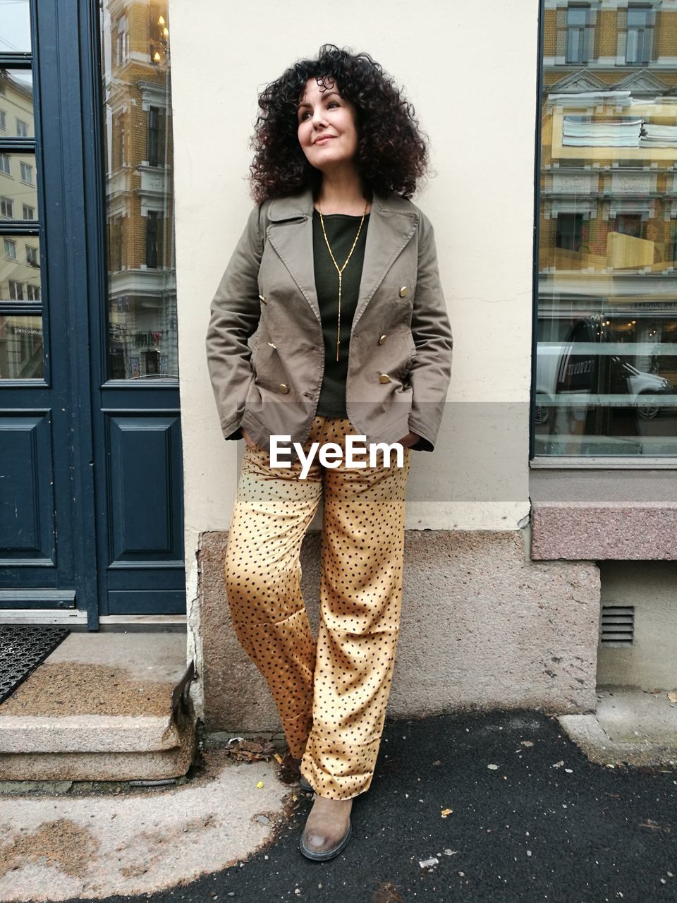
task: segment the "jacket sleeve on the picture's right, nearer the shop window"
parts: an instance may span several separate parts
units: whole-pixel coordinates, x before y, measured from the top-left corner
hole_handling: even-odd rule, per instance
[[[409,373],[413,388],[409,429],[421,436],[421,441],[412,448],[431,452],[447,400],[453,339],[440,283],[434,232],[422,211],[419,217],[421,232],[412,315],[416,357]]]

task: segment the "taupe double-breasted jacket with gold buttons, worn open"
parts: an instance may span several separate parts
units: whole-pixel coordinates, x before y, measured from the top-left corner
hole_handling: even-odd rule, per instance
[[[305,442],[324,342],[312,259],[311,191],[252,210],[211,304],[209,374],[221,429]],[[338,288],[338,280],[337,280]],[[366,442],[410,431],[431,451],[450,382],[452,338],[429,219],[375,197],[348,350],[348,418]]]

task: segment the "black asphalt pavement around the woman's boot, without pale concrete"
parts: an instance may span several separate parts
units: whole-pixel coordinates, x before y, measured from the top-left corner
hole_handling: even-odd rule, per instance
[[[300,793],[274,841],[246,861],[107,899],[677,901],[676,804],[677,768],[592,764],[543,712],[386,720],[336,859],[301,856],[312,797]]]

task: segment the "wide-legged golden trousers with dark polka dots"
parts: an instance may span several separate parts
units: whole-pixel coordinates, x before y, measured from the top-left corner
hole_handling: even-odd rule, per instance
[[[336,442],[348,419],[315,417],[304,443]],[[287,456],[288,460],[288,456]],[[404,466],[271,468],[247,446],[225,575],[236,636],[273,694],[292,756],[320,796],[349,799],[374,777],[402,603]],[[301,542],[324,501],[317,642],[301,596]]]

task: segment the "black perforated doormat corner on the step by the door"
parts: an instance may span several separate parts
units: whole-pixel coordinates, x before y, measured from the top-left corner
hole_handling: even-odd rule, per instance
[[[0,703],[70,634],[66,627],[0,624]]]

